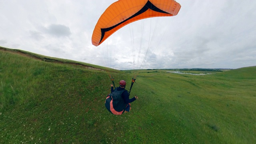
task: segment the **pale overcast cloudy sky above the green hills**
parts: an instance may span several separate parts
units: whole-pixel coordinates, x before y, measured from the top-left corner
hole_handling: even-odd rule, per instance
[[[176,0],[177,16],[133,22],[93,46],[115,1],[0,0],[0,46],[118,70],[256,66],[255,0]]]

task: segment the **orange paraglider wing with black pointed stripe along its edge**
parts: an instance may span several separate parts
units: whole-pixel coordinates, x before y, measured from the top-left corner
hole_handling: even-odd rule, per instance
[[[175,0],[118,0],[100,16],[92,34],[92,44],[100,45],[118,29],[136,20],[175,16],[180,7]]]

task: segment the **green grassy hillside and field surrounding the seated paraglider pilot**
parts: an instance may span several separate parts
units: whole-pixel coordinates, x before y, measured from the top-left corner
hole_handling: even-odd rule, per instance
[[[110,78],[139,100],[115,116]],[[0,48],[0,143],[254,144],[256,66],[195,76],[126,72]]]

